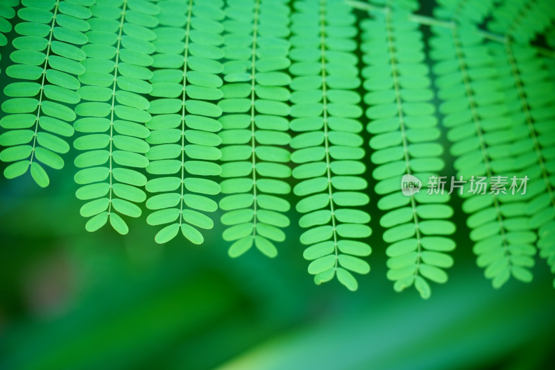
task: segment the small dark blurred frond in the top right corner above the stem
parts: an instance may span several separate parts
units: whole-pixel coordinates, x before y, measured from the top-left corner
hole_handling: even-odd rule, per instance
[[[529,43],[544,33],[554,19],[552,0],[503,0],[497,4],[488,28],[516,42]]]

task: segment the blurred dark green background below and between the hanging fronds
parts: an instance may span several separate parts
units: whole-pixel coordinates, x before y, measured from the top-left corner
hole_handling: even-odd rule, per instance
[[[420,14],[430,15],[432,4],[423,5]],[[2,71],[10,48],[2,49]],[[531,284],[511,279],[493,289],[476,267],[459,199],[450,280],[422,301],[386,280],[370,164],[372,271],[352,293],[336,280],[314,285],[293,212],[273,260],[255,249],[228,258],[217,222],[202,246],[179,237],[155,244],[147,212],[125,237],[108,227],[87,233],[71,155],[44,190],[28,174],[0,180],[2,370],[555,368],[545,261],[538,258]],[[448,153],[445,160],[450,176]]]

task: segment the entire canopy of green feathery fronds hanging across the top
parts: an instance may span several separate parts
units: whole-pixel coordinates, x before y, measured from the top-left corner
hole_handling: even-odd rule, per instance
[[[456,192],[494,287],[529,282],[538,249],[555,273],[552,0],[437,0],[433,17],[419,6],[0,1],[1,52],[15,49],[4,175],[49,185],[44,165],[64,166],[77,131],[89,231],[109,220],[126,234],[145,205],[157,243],[201,244],[221,224],[231,257],[275,257],[295,199],[316,284],[358,288],[375,222],[393,289],[422,298],[453,264]],[[424,188],[400,189],[405,175]],[[522,178],[526,193],[511,194]]]

